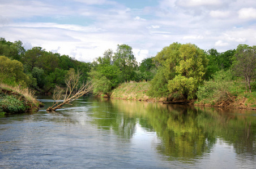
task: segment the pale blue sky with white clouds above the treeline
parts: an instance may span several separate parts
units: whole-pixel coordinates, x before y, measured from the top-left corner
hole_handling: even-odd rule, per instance
[[[0,0],[0,37],[91,62],[117,45],[138,63],[173,42],[256,45],[255,0]]]

